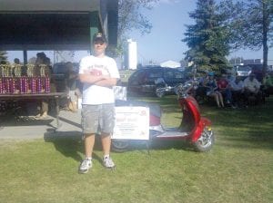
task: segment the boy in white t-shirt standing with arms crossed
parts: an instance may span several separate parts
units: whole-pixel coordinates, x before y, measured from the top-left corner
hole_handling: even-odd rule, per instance
[[[83,82],[82,127],[85,136],[86,158],[79,166],[80,173],[88,172],[92,167],[92,152],[95,135],[100,132],[104,151],[104,165],[114,168],[109,157],[111,133],[115,125],[115,97],[113,86],[119,78],[116,62],[106,56],[106,39],[103,34],[95,34],[94,54],[81,60],[79,79]]]

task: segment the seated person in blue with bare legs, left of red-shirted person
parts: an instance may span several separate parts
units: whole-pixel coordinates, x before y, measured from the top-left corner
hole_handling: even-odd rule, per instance
[[[214,78],[214,73],[208,73],[208,78],[204,81],[203,86],[207,88],[207,96],[213,97],[217,102],[217,107],[225,107],[221,92],[217,91],[217,82]]]

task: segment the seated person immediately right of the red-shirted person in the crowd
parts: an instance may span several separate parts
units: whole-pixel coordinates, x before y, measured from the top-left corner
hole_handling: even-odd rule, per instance
[[[230,89],[232,93],[233,103],[237,107],[244,102],[244,82],[242,81],[240,76],[237,75],[235,80],[230,82]]]

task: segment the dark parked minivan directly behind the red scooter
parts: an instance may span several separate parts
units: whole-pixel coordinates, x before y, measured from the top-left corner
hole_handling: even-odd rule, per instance
[[[185,81],[185,73],[176,68],[146,66],[136,70],[136,72],[129,77],[127,91],[156,95],[157,88],[166,86],[169,87],[170,93],[174,93],[174,87]]]

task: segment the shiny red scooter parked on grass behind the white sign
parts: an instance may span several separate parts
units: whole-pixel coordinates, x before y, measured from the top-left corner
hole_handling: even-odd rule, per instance
[[[183,117],[177,128],[164,127],[161,122],[161,108],[157,104],[147,102],[116,102],[116,106],[147,106],[149,107],[149,140],[187,140],[197,151],[211,150],[215,136],[211,130],[211,121],[201,117],[197,101],[188,94],[197,82],[185,82],[177,86],[178,103]],[[164,90],[162,90],[164,91]],[[112,140],[112,150],[125,151],[130,140]]]

